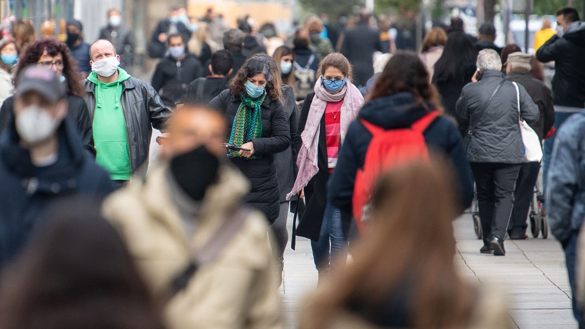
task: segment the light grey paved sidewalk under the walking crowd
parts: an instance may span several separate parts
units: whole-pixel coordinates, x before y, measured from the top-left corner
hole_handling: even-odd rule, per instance
[[[292,214],[288,218],[292,223]],[[508,293],[512,328],[576,329],[571,310],[571,293],[565,268],[565,254],[554,238],[506,240],[506,255],[479,253],[482,242],[473,232],[470,215],[454,222],[455,255],[461,273],[468,280],[498,283]],[[290,225],[288,225],[290,230]],[[287,320],[296,328],[298,307],[317,283],[311,244],[297,237],[297,250],[284,255],[284,280],[280,287]]]

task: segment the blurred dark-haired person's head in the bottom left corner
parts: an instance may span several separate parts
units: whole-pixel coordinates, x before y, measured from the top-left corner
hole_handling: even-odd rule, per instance
[[[163,329],[132,256],[95,200],[67,198],[48,211],[4,272],[0,327]]]

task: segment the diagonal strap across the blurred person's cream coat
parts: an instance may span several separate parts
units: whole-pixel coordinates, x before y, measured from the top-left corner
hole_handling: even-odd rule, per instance
[[[170,297],[185,289],[191,281],[191,277],[201,266],[205,266],[217,258],[223,248],[232,241],[233,236],[240,231],[249,214],[250,211],[244,208],[225,218],[207,243],[195,255],[191,256],[191,261],[187,267],[171,281]]]

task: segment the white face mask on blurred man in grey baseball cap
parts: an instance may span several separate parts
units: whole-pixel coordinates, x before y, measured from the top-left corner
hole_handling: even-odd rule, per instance
[[[49,138],[60,121],[50,116],[37,105],[30,105],[16,115],[16,131],[29,144],[36,144]]]

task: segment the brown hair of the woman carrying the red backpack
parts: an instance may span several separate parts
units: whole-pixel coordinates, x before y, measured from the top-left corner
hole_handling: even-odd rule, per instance
[[[377,78],[369,100],[388,97],[399,92],[410,92],[418,102],[426,107],[425,101],[443,112],[439,93],[430,83],[429,71],[414,52],[399,50],[384,67]]]

